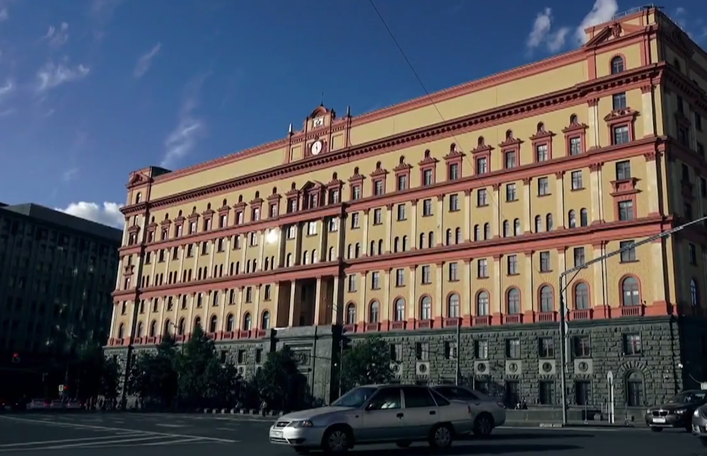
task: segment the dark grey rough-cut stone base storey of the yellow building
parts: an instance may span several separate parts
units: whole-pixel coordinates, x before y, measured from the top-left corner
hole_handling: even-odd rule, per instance
[[[272,329],[262,339],[219,342],[223,361],[238,366],[244,378],[255,375],[267,353],[289,346],[300,362],[300,373],[306,378],[313,397],[330,400],[338,394],[336,371],[339,361],[339,327],[293,327]],[[624,336],[640,334],[641,354],[626,353]],[[351,344],[367,334],[345,334]],[[383,332],[380,333],[397,354],[397,380],[403,383],[436,384],[454,382],[455,328]],[[590,354],[575,356],[573,337],[590,337]],[[539,339],[554,340],[554,357],[539,356]],[[507,356],[510,339],[520,339],[520,356]],[[477,341],[486,341],[487,356],[475,353]],[[568,402],[576,404],[575,385],[588,385],[587,399],[593,407],[602,407],[609,398],[611,372],[614,378],[614,398],[617,407],[629,400],[627,379],[638,390],[638,405],[665,402],[683,388],[699,387],[696,382],[707,380],[703,372],[707,357],[707,321],[674,317],[626,317],[617,320],[571,322],[568,333],[566,380]],[[490,394],[503,397],[510,382],[517,382],[518,397],[528,404],[539,402],[540,385],[551,390],[552,404],[561,403],[559,330],[555,323],[542,325],[503,325],[498,327],[462,328],[460,333],[460,372],[462,380],[484,387]],[[418,344],[421,344],[418,346]],[[136,346],[133,353],[152,349]],[[426,353],[421,353],[427,349]],[[107,347],[106,356],[115,356],[121,366],[127,360],[126,347]],[[682,366],[682,367],[681,367]],[[638,382],[638,383],[636,383]],[[617,410],[617,413],[619,411]]]

